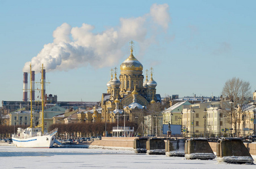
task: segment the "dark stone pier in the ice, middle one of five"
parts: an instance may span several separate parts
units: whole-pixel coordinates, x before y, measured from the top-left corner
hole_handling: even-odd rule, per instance
[[[164,140],[166,146],[166,156],[185,156],[185,139],[167,139]]]

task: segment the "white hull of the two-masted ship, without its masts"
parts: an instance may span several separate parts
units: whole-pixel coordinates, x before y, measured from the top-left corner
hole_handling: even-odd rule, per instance
[[[12,142],[19,148],[52,148],[55,135],[34,136],[27,139],[12,137]]]

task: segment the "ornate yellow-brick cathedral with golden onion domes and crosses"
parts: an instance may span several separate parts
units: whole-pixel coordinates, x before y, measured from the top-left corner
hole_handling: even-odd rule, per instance
[[[114,123],[121,116],[125,121],[133,121],[134,109],[146,109],[147,105],[160,102],[160,94],[156,94],[157,82],[153,79],[153,69],[150,68],[150,79],[144,81],[142,74],[143,65],[133,56],[133,42],[131,42],[131,54],[120,65],[119,79],[116,77],[117,69],[114,69],[113,78],[107,82],[107,93],[102,94],[102,122]]]

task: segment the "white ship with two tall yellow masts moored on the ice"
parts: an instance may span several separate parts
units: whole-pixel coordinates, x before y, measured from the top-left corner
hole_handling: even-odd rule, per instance
[[[30,65],[31,68],[31,65]],[[31,71],[32,72],[32,71]],[[42,73],[44,72],[44,64],[42,64]],[[16,134],[12,135],[12,142],[17,147],[22,148],[51,148],[53,147],[55,134],[58,128],[47,133],[44,132],[44,78],[41,79],[42,86],[42,114],[41,124],[33,127],[32,99],[31,99],[31,126],[28,128],[18,128]],[[31,78],[31,97],[32,97],[32,78]]]

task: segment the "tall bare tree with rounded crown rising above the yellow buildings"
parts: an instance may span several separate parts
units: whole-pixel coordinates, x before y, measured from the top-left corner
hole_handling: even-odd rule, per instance
[[[232,104],[229,104],[229,101],[224,101],[222,106],[224,108],[225,114],[231,115],[232,119],[229,122],[234,124],[235,133],[237,134],[237,116],[240,117],[240,115],[237,115],[235,108],[237,105],[242,106],[246,103],[246,101],[248,101],[251,95],[250,83],[242,81],[242,79],[236,77],[228,79],[228,81],[224,84],[222,95],[224,98],[228,98],[230,101],[233,101]],[[232,111],[228,113],[227,108]]]

